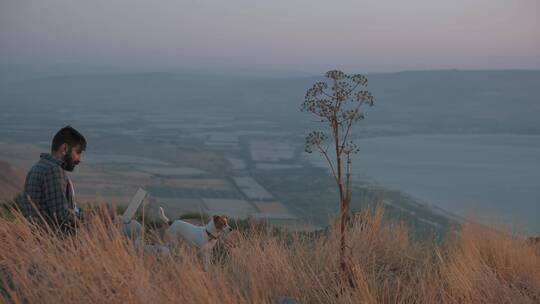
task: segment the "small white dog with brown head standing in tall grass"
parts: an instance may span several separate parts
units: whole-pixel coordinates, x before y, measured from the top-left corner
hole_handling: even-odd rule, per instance
[[[182,238],[199,248],[204,271],[208,271],[212,248],[216,245],[218,238],[232,231],[227,218],[220,215],[214,215],[206,226],[195,226],[182,220],[171,222],[161,207],[159,207],[159,217],[170,225],[166,234],[176,239]]]

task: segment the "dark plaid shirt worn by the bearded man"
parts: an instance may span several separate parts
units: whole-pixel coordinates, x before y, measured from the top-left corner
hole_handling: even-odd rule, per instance
[[[62,169],[62,160],[42,153],[30,169],[24,184],[24,198],[19,208],[28,219],[39,220],[37,210],[52,224],[71,225],[75,220],[73,184]],[[27,199],[28,196],[31,202]],[[32,206],[35,204],[36,208]]]

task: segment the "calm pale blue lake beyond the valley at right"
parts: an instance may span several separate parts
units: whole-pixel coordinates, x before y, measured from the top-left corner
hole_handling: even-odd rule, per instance
[[[362,178],[461,216],[540,233],[540,135],[410,135],[356,143],[361,151],[353,173]]]

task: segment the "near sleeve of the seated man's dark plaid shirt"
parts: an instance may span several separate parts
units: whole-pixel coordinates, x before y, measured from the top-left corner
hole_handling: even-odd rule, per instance
[[[73,212],[66,196],[67,182],[60,167],[52,167],[43,180],[44,209],[50,220],[58,224],[73,222]]]

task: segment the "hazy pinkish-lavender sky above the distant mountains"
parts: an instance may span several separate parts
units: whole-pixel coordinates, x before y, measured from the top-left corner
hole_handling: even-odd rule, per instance
[[[0,0],[0,64],[540,69],[539,0]]]

